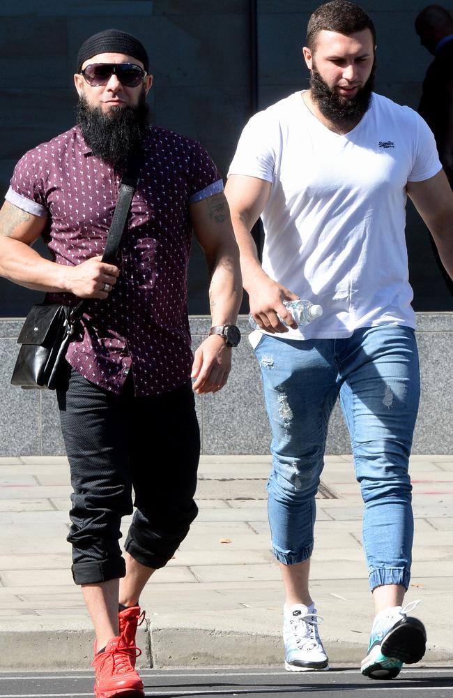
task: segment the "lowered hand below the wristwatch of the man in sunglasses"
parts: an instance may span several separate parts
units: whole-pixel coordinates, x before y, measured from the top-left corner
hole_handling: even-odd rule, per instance
[[[218,392],[227,383],[231,371],[231,347],[218,334],[210,335],[197,349],[192,366],[192,385],[197,395]]]

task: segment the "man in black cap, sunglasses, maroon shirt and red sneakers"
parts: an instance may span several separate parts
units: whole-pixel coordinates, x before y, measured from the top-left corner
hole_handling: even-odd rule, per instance
[[[95,695],[143,696],[139,596],[197,516],[194,392],[231,369],[242,289],[223,184],[197,142],[148,126],[148,55],[116,29],[79,50],[79,124],[26,153],[0,211],[0,274],[51,302],[86,299],[57,389],[70,461],[72,575],[95,628]],[[102,262],[124,172],[138,177],[114,264]],[[210,268],[213,327],[193,357],[192,227]],[[52,253],[31,248],[42,236]],[[194,378],[192,385],[191,378]],[[125,557],[121,517],[135,510]]]

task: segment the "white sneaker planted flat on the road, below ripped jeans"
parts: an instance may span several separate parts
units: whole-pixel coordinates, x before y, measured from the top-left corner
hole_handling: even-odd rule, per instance
[[[286,671],[325,671],[328,656],[318,634],[318,616],[314,604],[285,606],[283,611],[283,641]]]

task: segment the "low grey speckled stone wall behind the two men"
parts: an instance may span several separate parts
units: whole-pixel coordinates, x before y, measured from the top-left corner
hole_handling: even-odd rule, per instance
[[[17,355],[22,320],[0,320],[0,456],[59,455],[64,452],[54,392],[22,390],[9,385]],[[194,346],[210,327],[209,318],[192,317]],[[422,398],[413,452],[453,452],[453,313],[418,313]],[[243,341],[233,350],[233,371],[227,386],[215,395],[197,396],[204,454],[266,454],[270,431],[264,409],[261,377],[240,319]],[[330,420],[327,452],[350,452],[338,405]]]

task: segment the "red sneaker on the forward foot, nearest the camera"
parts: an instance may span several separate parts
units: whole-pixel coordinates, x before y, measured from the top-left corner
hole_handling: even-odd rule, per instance
[[[112,637],[107,642],[105,651],[96,654],[93,664],[96,672],[94,695],[96,698],[113,698],[121,696],[144,696],[141,678],[132,667],[132,655],[137,655],[137,647],[127,647],[121,637]],[[140,651],[139,651],[140,652]]]

